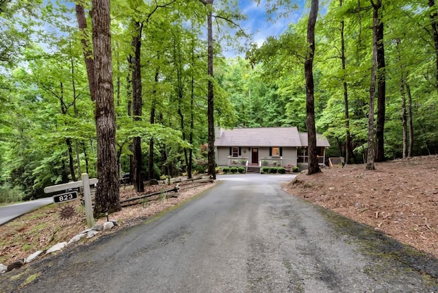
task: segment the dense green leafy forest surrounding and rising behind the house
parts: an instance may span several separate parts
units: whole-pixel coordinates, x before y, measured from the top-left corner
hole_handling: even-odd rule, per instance
[[[262,2],[272,23],[294,8],[293,1]],[[215,126],[307,131],[310,1],[297,23],[261,45],[240,27],[251,16],[238,4],[111,1],[119,175],[205,173],[213,101]],[[88,78],[89,62],[98,60],[91,9],[91,1],[0,0],[0,199],[37,199],[45,186],[98,175],[95,116],[105,111],[96,109]],[[230,48],[236,57],[225,57]],[[313,78],[327,155],[366,162],[374,91],[376,162],[438,153],[435,1],[321,1]]]

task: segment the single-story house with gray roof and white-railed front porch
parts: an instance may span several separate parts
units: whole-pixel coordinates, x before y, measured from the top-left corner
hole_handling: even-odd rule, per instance
[[[244,166],[259,171],[262,166],[298,166],[307,168],[307,133],[296,127],[259,127],[215,129],[216,164]],[[330,146],[322,134],[317,134],[316,145],[321,165],[325,149]]]

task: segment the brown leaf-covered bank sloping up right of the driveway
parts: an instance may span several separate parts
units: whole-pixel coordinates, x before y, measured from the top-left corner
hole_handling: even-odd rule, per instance
[[[287,191],[438,257],[438,155],[324,168]]]

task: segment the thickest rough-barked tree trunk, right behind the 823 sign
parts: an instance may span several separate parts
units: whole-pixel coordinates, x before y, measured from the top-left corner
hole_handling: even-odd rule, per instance
[[[112,85],[110,0],[92,0],[96,86],[97,184],[95,214],[120,211],[116,155],[116,115]]]

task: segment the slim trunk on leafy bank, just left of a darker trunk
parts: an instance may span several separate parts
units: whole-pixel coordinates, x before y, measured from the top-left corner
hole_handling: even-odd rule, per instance
[[[376,99],[376,79],[377,79],[377,37],[378,36],[378,10],[373,12],[372,26],[372,69],[370,84],[370,108],[368,110],[368,151],[367,151],[367,170],[374,170],[374,160],[376,149],[374,145],[374,100]]]

